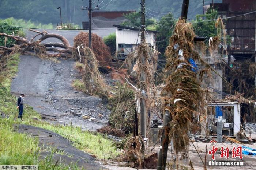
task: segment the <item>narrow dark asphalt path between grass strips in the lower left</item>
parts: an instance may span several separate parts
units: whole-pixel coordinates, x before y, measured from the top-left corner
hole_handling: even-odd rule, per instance
[[[84,153],[83,151],[80,151],[79,149],[76,149],[67,139],[63,138],[57,133],[24,124],[15,124],[14,127],[19,133],[26,133],[32,137],[38,137],[39,147],[43,147],[44,149],[52,147],[57,151],[63,151],[65,153],[64,155],[53,153],[53,159],[55,161],[62,160],[61,163],[65,164],[76,163],[76,165],[79,167],[84,167],[91,170],[102,169],[102,167],[94,163],[95,159],[93,157],[87,153]],[[40,157],[43,159],[49,154],[50,152],[42,151],[40,152]]]

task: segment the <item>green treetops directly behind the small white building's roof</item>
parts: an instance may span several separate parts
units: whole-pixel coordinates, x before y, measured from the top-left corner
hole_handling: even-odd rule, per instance
[[[127,27],[135,27],[135,28],[140,28],[141,27],[141,14],[139,12],[132,12],[132,13],[128,13],[126,15],[124,15],[124,17],[126,17],[128,19],[128,21],[124,21],[123,23],[121,23],[121,25],[123,26],[127,26]],[[156,20],[155,19],[146,19],[145,24],[148,27],[152,27],[156,24]]]

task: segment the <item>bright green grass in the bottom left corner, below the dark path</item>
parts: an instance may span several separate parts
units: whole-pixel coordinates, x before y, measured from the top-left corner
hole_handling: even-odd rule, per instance
[[[31,121],[31,120],[30,120]],[[13,129],[15,121],[10,118],[0,118],[0,165],[38,165],[38,169],[68,170],[78,169],[76,165],[64,165],[61,160],[56,164],[53,159],[54,150],[44,159],[39,159],[39,151],[44,151],[38,146],[38,138],[27,134],[17,133]]]

